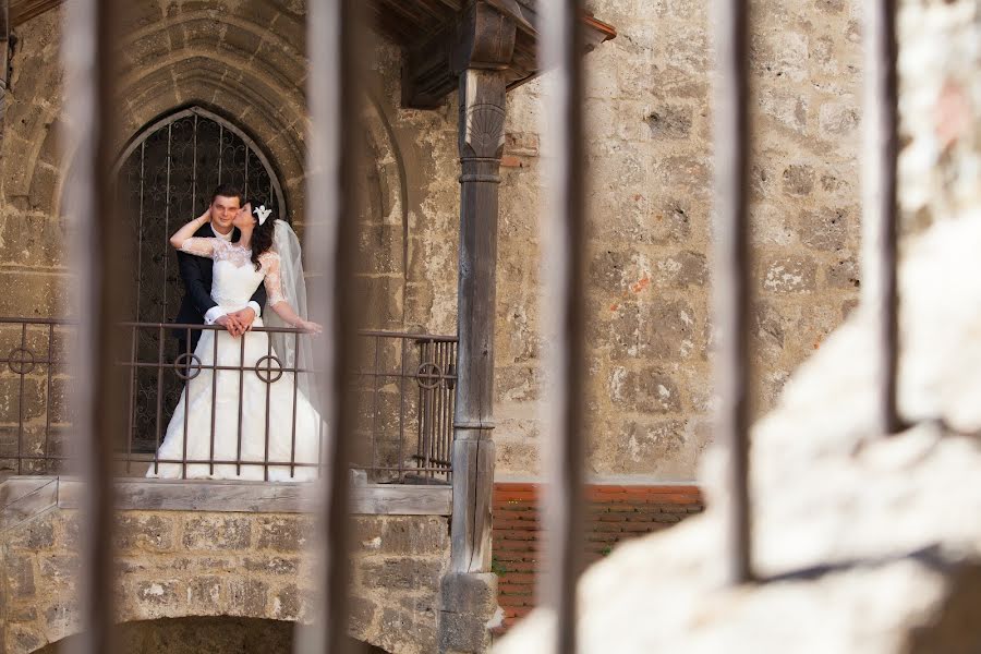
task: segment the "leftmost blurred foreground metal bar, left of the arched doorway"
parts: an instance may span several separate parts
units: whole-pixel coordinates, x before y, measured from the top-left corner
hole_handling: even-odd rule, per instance
[[[118,123],[112,86],[116,20],[120,8],[112,0],[76,0],[68,3],[63,22],[62,61],[65,71],[65,152],[74,153],[75,174],[68,181],[66,205],[77,229],[73,263],[78,272],[78,305],[86,307],[80,320],[78,347],[73,355],[76,384],[75,439],[82,479],[86,483],[80,523],[81,581],[78,605],[82,621],[74,649],[81,654],[112,654],[113,520],[112,444],[125,428],[119,410],[122,386],[111,365],[116,339],[112,326],[122,316],[126,283],[122,230],[116,222],[110,130]]]

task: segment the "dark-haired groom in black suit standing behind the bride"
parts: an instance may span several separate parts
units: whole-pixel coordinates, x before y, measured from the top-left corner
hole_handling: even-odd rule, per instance
[[[221,184],[211,194],[209,208],[210,219],[201,229],[194,232],[195,237],[215,237],[226,241],[239,240],[239,230],[232,226],[235,214],[244,204],[242,192],[230,184]],[[259,284],[249,306],[234,313],[221,312],[218,303],[211,300],[211,268],[215,264],[210,258],[194,256],[184,252],[178,252],[178,263],[181,269],[181,279],[184,281],[184,299],[181,301],[181,310],[175,322],[192,325],[221,325],[233,337],[239,337],[252,326],[256,316],[262,313],[262,306],[266,303],[265,284]],[[179,352],[193,352],[201,339],[201,330],[191,330],[191,341],[187,342],[187,330],[175,329]]]

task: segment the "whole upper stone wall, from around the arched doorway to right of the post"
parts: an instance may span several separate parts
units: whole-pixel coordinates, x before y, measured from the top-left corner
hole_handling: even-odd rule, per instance
[[[712,53],[706,3],[593,0],[619,36],[585,59],[593,214],[591,472],[690,480],[711,440]],[[753,241],[762,407],[853,304],[860,46],[856,0],[759,0]],[[199,104],[269,153],[302,223],[302,4],[140,3],[128,19],[120,138]],[[63,291],[60,12],[17,28],[0,156],[0,315],[57,315]],[[399,108],[399,52],[377,48],[368,220],[359,270],[372,327],[456,331],[457,101]],[[499,221],[498,470],[538,471],[542,124],[547,75],[508,100]],[[16,161],[11,165],[8,162]],[[301,226],[302,227],[302,226]]]

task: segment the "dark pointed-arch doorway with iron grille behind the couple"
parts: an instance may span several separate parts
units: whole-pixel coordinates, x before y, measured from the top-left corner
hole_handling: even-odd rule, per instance
[[[177,315],[184,287],[168,239],[204,211],[218,184],[234,184],[270,207],[274,216],[288,218],[282,187],[266,154],[232,122],[202,107],[175,111],[142,129],[119,158],[117,180],[120,207],[131,228],[135,292],[130,318],[140,323],[167,323]],[[145,362],[156,362],[161,352],[168,362],[178,354],[166,330],[141,329],[136,350],[138,361]],[[135,374],[137,451],[154,449],[183,388],[177,375],[158,374],[153,368]]]

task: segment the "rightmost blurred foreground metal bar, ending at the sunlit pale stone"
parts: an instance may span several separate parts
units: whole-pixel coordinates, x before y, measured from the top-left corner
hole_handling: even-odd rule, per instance
[[[903,428],[896,399],[899,299],[896,278],[896,158],[899,152],[896,0],[870,0],[865,21],[863,301],[875,316],[875,429]]]

